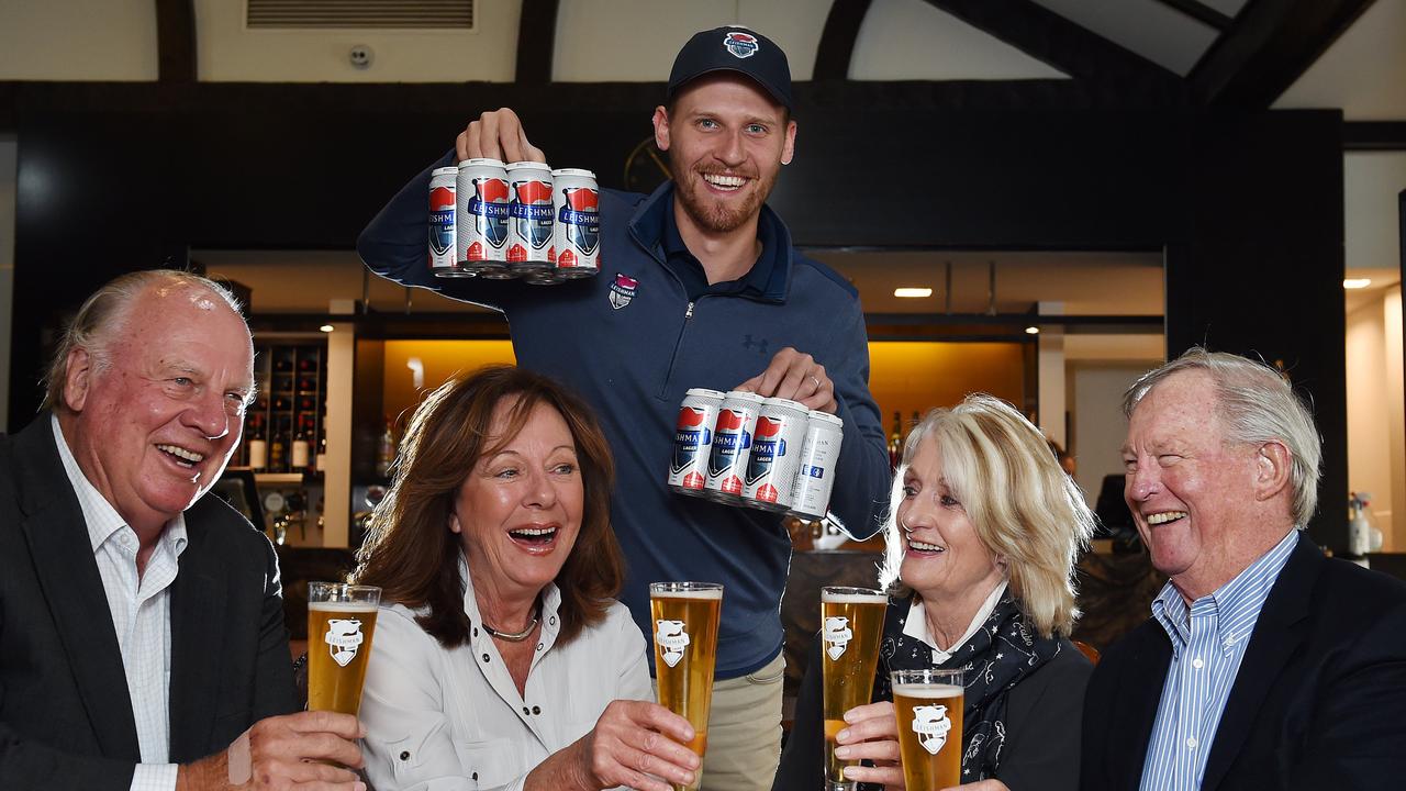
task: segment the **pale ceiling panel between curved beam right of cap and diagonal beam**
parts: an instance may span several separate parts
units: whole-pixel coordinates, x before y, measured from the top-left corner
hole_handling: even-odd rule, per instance
[[[875,0],[852,80],[1031,80],[1066,75],[924,0]]]

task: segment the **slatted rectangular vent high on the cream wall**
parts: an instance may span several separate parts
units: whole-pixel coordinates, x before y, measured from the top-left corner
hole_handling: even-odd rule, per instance
[[[246,0],[250,28],[474,30],[474,0]]]

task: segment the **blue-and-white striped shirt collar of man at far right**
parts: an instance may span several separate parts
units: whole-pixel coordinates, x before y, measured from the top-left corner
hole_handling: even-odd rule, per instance
[[[1246,566],[1234,578],[1191,602],[1189,607],[1181,591],[1168,580],[1153,600],[1152,614],[1171,638],[1173,653],[1180,653],[1191,642],[1192,619],[1212,618],[1216,643],[1225,650],[1249,638],[1298,540],[1299,531],[1289,531],[1279,543]]]

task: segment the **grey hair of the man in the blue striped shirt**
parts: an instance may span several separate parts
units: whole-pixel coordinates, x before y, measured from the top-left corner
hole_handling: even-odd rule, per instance
[[[1175,360],[1139,377],[1123,394],[1123,415],[1132,418],[1143,397],[1185,370],[1206,372],[1215,381],[1216,417],[1229,442],[1281,442],[1289,449],[1294,522],[1301,528],[1308,525],[1317,510],[1323,436],[1313,424],[1313,412],[1278,369],[1239,355],[1192,346]]]

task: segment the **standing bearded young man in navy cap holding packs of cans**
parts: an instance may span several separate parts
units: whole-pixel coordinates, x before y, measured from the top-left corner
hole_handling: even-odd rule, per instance
[[[875,532],[890,484],[858,293],[800,255],[765,204],[794,153],[790,108],[790,69],[770,39],[742,28],[689,39],[654,111],[673,179],[650,196],[602,190],[598,277],[544,290],[437,280],[425,266],[430,170],[479,156],[546,160],[506,108],[468,124],[456,151],[411,182],[357,242],[381,276],[503,311],[519,365],[596,407],[619,477],[612,519],[628,560],[620,600],[645,635],[648,583],[724,584],[707,788],[770,787],[790,540],[776,514],[665,487],[685,390],[740,387],[841,417],[830,507],[856,538]]]

